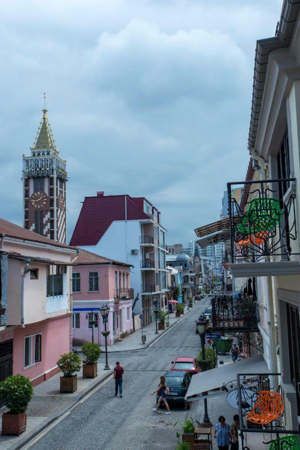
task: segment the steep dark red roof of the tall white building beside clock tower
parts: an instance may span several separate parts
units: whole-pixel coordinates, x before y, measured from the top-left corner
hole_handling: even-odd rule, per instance
[[[149,216],[126,195],[127,220]],[[96,245],[114,220],[125,220],[125,195],[85,197],[70,245]]]

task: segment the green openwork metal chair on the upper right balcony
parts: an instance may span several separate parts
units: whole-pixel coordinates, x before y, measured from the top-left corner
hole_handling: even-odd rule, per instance
[[[249,208],[235,230],[241,234],[271,231],[278,225],[281,213],[280,202],[276,198],[253,198]]]

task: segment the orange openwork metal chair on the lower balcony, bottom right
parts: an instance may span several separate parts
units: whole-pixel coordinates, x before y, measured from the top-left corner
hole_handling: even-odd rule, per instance
[[[261,390],[247,420],[258,425],[267,425],[282,414],[284,408],[279,392]]]

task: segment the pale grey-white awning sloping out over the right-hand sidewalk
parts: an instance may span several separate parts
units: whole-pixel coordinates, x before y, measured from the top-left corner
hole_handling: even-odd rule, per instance
[[[196,373],[192,376],[185,399],[196,400],[202,392],[222,387],[229,381],[236,380],[237,373],[268,373],[268,368],[261,354],[241,361],[219,365],[214,369]],[[191,398],[193,395],[197,397]]]

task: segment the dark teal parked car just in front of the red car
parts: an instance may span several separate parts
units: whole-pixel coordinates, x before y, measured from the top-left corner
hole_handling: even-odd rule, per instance
[[[169,388],[169,394],[166,396],[167,401],[172,400],[180,403],[184,403],[185,408],[189,408],[189,401],[185,400],[185,395],[192,377],[190,371],[168,370],[164,373],[165,382]],[[156,403],[159,395],[156,394]]]

